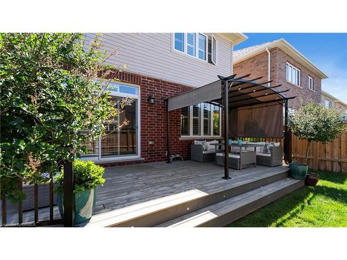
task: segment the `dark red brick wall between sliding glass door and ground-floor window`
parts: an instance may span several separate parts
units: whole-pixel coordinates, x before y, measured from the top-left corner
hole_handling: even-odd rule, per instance
[[[139,85],[141,96],[141,157],[142,161],[114,162],[103,166],[119,166],[124,164],[141,164],[144,162],[160,162],[167,159],[167,112],[164,98],[187,92],[192,87],[170,83],[157,78],[136,75],[127,72],[113,73],[112,78],[118,78],[125,83]],[[155,104],[150,104],[150,95],[155,97]],[[171,154],[190,157],[192,141],[180,141],[180,110],[170,112],[170,145]],[[149,144],[149,142],[153,144]]]

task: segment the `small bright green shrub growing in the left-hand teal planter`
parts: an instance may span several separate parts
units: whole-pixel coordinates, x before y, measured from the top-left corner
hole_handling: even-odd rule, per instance
[[[105,168],[94,164],[92,161],[82,161],[81,159],[74,160],[72,164],[74,171],[74,192],[94,189],[97,186],[102,186],[105,179],[103,173]],[[55,177],[54,182],[58,184],[56,192],[62,193],[64,184],[64,170]]]

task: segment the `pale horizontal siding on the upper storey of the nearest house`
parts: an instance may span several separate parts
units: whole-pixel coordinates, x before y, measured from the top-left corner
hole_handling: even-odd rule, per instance
[[[86,34],[85,44],[89,45],[94,36]],[[217,75],[231,73],[232,43],[221,35],[214,36],[218,42],[217,65],[174,50],[174,33],[104,33],[101,40],[107,51],[117,50],[117,55],[108,60],[109,64],[118,64],[124,71],[201,87],[217,80]]]

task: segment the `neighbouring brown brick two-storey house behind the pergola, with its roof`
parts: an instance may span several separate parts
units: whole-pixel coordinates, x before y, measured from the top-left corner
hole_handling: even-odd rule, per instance
[[[251,78],[264,76],[273,80],[278,90],[289,89],[289,108],[298,109],[300,100],[321,103],[321,80],[328,78],[318,67],[284,39],[266,42],[234,51],[234,73],[251,73]]]

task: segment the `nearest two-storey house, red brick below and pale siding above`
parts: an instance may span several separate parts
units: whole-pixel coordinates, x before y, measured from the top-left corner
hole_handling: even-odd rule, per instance
[[[90,44],[94,34],[85,35]],[[167,153],[165,99],[232,74],[233,46],[242,33],[106,33],[103,48],[117,50],[110,64],[121,71],[112,81],[115,100],[132,98],[110,125],[108,135],[90,144],[85,158],[104,166],[164,161]],[[189,159],[192,139],[221,137],[220,109],[209,103],[172,112],[171,153]],[[118,125],[128,120],[121,129]]]

